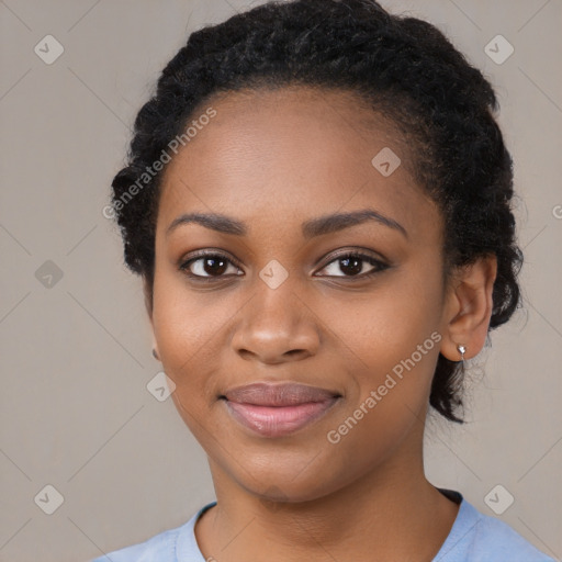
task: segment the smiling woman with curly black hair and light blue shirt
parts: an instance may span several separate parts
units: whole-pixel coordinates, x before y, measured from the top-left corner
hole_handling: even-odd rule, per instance
[[[552,560],[424,473],[429,406],[519,303],[491,85],[374,0],[193,33],[113,181],[155,357],[217,501],[97,559]]]

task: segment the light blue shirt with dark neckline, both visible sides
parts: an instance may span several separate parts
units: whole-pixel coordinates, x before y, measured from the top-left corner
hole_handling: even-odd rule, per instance
[[[481,514],[459,492],[438,490],[453,502],[460,502],[460,507],[451,531],[432,562],[555,562],[504,521]],[[198,518],[215,504],[212,502],[202,507],[181,527],[92,562],[206,562],[199,550],[194,527]]]

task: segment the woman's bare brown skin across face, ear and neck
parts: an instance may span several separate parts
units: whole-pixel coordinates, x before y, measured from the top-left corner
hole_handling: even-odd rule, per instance
[[[408,173],[411,156],[392,126],[352,94],[293,87],[231,92],[200,113],[209,105],[216,116],[162,178],[147,306],[172,398],[215,486],[217,506],[195,526],[200,549],[220,562],[430,561],[458,513],[424,474],[430,383],[439,351],[458,361],[458,344],[467,359],[484,346],[496,261],[481,259],[443,286],[440,212]],[[389,177],[371,164],[383,147],[402,159]],[[303,237],[305,221],[363,209],[407,235],[368,221]],[[166,235],[192,212],[243,221],[247,234],[190,223]],[[189,271],[207,284],[179,269],[205,248],[234,258],[214,278],[216,267],[192,262]],[[363,260],[350,276],[337,259],[344,248],[390,267]],[[276,289],[259,277],[273,259],[288,273]],[[329,442],[328,431],[436,331],[440,341]],[[342,398],[312,425],[265,438],[218,400],[256,381],[300,382]]]

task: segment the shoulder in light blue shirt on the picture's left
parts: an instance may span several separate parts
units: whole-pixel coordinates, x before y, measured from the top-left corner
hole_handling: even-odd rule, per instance
[[[203,512],[215,503],[202,507],[180,527],[155,535],[144,542],[109,552],[91,562],[184,562],[187,560],[190,562],[203,560],[204,562],[196,544],[194,527]]]

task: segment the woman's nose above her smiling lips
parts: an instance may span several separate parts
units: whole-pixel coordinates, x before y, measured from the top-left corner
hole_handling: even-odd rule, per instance
[[[259,288],[240,314],[232,346],[243,359],[274,364],[317,353],[316,316],[289,283]]]

